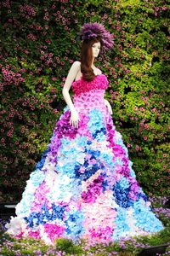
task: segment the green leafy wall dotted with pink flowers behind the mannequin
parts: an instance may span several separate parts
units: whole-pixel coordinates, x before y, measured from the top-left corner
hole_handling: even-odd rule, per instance
[[[98,21],[114,47],[96,65],[138,181],[168,195],[168,5],[163,0],[3,0],[1,201],[19,201],[65,107],[61,90],[79,59],[77,32]]]

